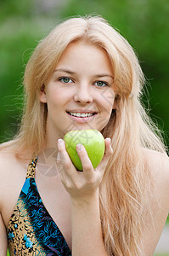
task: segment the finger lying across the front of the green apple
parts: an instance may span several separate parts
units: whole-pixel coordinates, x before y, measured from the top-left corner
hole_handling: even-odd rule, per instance
[[[91,177],[93,175],[93,165],[88,157],[87,150],[82,144],[76,145],[76,151],[82,162],[82,170],[85,176]]]

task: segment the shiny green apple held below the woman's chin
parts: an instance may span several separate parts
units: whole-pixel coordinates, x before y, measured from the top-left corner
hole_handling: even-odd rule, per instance
[[[104,137],[97,130],[77,130],[69,131],[64,137],[65,148],[70,156],[70,160],[78,171],[82,171],[82,162],[76,152],[76,145],[81,143],[87,150],[89,159],[95,169],[104,156]]]

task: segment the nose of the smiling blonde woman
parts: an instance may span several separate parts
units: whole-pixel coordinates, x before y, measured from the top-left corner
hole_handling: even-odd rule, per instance
[[[74,101],[81,104],[87,104],[89,102],[93,102],[93,96],[87,84],[77,85],[76,92],[74,95]]]

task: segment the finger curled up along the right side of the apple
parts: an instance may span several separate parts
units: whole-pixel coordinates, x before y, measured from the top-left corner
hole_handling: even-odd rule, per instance
[[[100,171],[104,172],[108,161],[110,160],[110,156],[113,154],[113,148],[111,147],[111,139],[107,137],[105,139],[105,152],[104,152],[104,158],[97,167]]]

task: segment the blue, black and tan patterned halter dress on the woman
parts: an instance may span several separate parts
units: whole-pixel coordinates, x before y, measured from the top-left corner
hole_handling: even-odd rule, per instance
[[[37,190],[37,158],[28,166],[24,186],[10,218],[7,236],[11,256],[70,256],[70,249]]]

